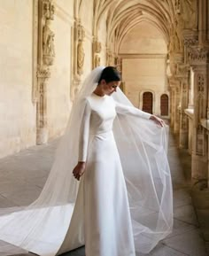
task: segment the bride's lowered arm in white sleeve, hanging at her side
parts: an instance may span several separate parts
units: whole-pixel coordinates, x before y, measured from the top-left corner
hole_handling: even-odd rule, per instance
[[[81,120],[80,138],[79,138],[79,156],[78,164],[74,167],[74,177],[79,181],[84,174],[86,167],[88,143],[89,143],[89,123],[91,109],[88,100],[86,100],[84,112]]]

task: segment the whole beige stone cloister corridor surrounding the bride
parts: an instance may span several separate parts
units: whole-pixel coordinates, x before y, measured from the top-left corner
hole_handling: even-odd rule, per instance
[[[0,214],[6,216],[2,219],[8,217],[5,213],[13,212],[16,207],[19,210],[29,205],[45,191],[44,183],[49,175],[59,138],[66,130],[69,114],[78,92],[83,88],[83,81],[98,66],[113,66],[120,76],[117,80],[120,81],[120,89],[130,103],[135,108],[154,115],[153,119],[162,118],[170,127],[168,159],[174,189],[174,229],[149,255],[209,255],[209,0],[0,0],[0,33]],[[97,82],[92,81],[92,84],[96,86]],[[88,86],[92,84],[89,83]],[[122,94],[120,96],[124,97]],[[125,100],[128,102],[127,98]],[[78,119],[81,120],[80,116]],[[130,121],[129,124],[134,122]],[[74,125],[75,128],[77,131],[81,130],[81,126],[77,128]],[[141,129],[141,132],[147,130]],[[133,144],[138,145],[135,141]],[[133,157],[135,152],[141,151],[128,152]],[[154,154],[152,156],[156,157]],[[140,158],[135,158],[136,160],[140,161]],[[157,166],[158,162],[159,159],[156,160]],[[144,169],[147,170],[147,167]],[[157,173],[158,171],[154,174],[155,178]],[[147,172],[144,174],[146,176]],[[170,176],[166,174],[164,169],[157,174],[159,187],[163,184],[162,180],[168,180],[170,184]],[[137,178],[136,186],[147,184],[141,182],[141,176],[137,175]],[[57,179],[55,180],[57,184]],[[151,175],[149,184],[152,181]],[[68,191],[68,184],[65,188]],[[156,206],[161,206],[160,196],[171,195],[169,192],[160,194],[159,190],[154,190],[159,192],[159,197],[149,197],[148,186],[143,188],[145,189],[140,187],[138,198],[143,191],[149,203],[150,199],[157,199]],[[60,196],[59,191],[64,190],[51,191],[56,194],[56,198]],[[45,195],[48,198],[49,194]],[[74,200],[71,202],[74,204]],[[165,200],[160,201],[164,202]],[[153,205],[150,203],[149,206]],[[163,206],[166,206],[167,212],[172,209],[171,204],[170,207],[166,204]],[[143,204],[140,207],[143,208]],[[43,210],[42,207],[38,208],[40,209]],[[148,207],[149,211],[151,209]],[[118,208],[116,210],[119,211]],[[165,212],[159,210],[163,219]],[[152,218],[151,214],[145,212],[137,216]],[[157,221],[159,226],[154,226],[154,231],[146,229],[148,236],[143,236],[144,240],[151,240],[152,231],[157,231],[157,236],[161,236],[164,231],[162,229],[170,228],[172,218],[169,221],[167,219],[165,225]],[[152,222],[153,219],[149,224]],[[1,223],[0,221],[0,225]],[[65,225],[59,226],[66,228]],[[106,228],[113,225],[104,226]],[[0,231],[3,230],[2,227],[0,226]],[[39,234],[39,226],[34,227]],[[31,228],[33,231],[34,227]],[[54,228],[56,225],[49,227]],[[26,241],[25,237],[20,238],[19,233],[15,236],[14,229],[11,230],[11,237],[18,237],[19,243],[16,244],[33,249],[36,238],[31,242],[28,236]],[[16,230],[19,232],[19,229]],[[118,229],[112,230],[114,233]],[[46,232],[48,231],[49,229]],[[57,234],[59,236],[60,233]],[[141,235],[140,232],[138,234]],[[5,236],[9,237],[7,233]],[[45,241],[38,235],[36,237],[41,242]],[[45,237],[48,237],[48,233]],[[156,237],[154,243],[157,241]],[[51,244],[60,242],[56,236],[54,239],[55,242]],[[25,246],[25,242],[29,247]],[[48,249],[54,250],[51,249],[51,244]],[[132,251],[135,250],[133,244]],[[146,246],[148,243],[144,244]],[[122,247],[118,247],[121,252]],[[58,251],[53,253],[56,252]],[[43,255],[43,252],[39,253]],[[81,247],[74,252],[67,252],[65,256],[84,254],[84,247]],[[33,254],[0,241],[0,256],[7,255]]]

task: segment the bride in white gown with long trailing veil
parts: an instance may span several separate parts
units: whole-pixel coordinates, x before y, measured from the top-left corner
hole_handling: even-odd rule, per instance
[[[166,125],[119,86],[112,66],[89,74],[40,197],[0,217],[1,240],[43,256],[83,244],[86,256],[135,256],[171,232]]]

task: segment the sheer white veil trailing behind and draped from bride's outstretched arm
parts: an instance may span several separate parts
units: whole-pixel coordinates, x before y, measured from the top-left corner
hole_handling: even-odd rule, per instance
[[[39,255],[58,253],[71,225],[79,188],[72,171],[78,160],[85,98],[96,89],[103,69],[99,66],[89,74],[74,99],[66,134],[39,198],[30,206],[0,217],[0,240]],[[132,105],[120,89],[112,97],[120,104]],[[151,120],[120,114],[114,120],[113,134],[128,190],[136,252],[149,253],[173,227],[167,133],[167,127],[159,128]]]

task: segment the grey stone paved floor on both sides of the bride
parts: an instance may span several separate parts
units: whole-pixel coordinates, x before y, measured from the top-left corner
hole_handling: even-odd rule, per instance
[[[49,174],[58,140],[35,146],[10,157],[0,159],[0,213],[10,207],[27,206],[41,192]],[[205,244],[190,198],[190,156],[176,148],[170,136],[169,163],[174,184],[174,230],[149,254],[151,256],[206,256]],[[17,248],[4,244],[0,256],[14,255]],[[19,249],[15,255],[34,255]],[[63,256],[84,256],[84,247]],[[120,256],[120,255],[119,255]],[[137,256],[143,256],[137,255]]]

